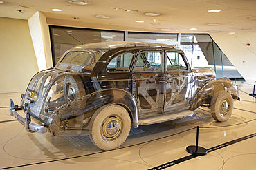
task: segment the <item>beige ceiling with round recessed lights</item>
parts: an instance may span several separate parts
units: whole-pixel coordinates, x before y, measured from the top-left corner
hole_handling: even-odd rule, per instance
[[[29,19],[40,11],[49,25],[151,32],[256,32],[256,0],[88,0],[85,6],[68,0],[2,1],[0,17]],[[52,12],[52,8],[62,11]],[[211,9],[221,12],[208,12]],[[147,12],[160,15],[146,16]],[[144,22],[136,23],[138,20]]]

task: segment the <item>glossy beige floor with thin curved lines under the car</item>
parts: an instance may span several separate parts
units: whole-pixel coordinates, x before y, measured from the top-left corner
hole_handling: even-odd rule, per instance
[[[237,85],[241,101],[228,121],[218,123],[200,107],[194,116],[131,129],[113,151],[98,149],[88,136],[27,133],[9,114],[10,98],[19,104],[20,93],[0,94],[0,169],[256,169],[253,83]],[[196,126],[205,156],[186,151],[195,145]]]

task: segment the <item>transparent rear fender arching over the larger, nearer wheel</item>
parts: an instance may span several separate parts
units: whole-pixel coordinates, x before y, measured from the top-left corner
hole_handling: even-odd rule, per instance
[[[118,104],[125,107],[138,127],[138,103],[136,98],[123,89],[103,89],[66,103],[56,109],[48,121],[48,129],[53,135],[63,135],[66,131],[82,134],[94,112],[103,105]]]

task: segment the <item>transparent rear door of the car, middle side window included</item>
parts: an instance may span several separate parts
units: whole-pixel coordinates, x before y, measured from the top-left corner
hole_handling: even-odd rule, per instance
[[[163,52],[141,50],[134,64],[133,94],[138,98],[139,118],[163,114]]]

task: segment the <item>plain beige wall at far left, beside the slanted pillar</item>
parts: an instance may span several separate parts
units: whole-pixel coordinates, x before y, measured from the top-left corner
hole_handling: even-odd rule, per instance
[[[28,21],[0,17],[0,93],[25,92],[36,72]]]

